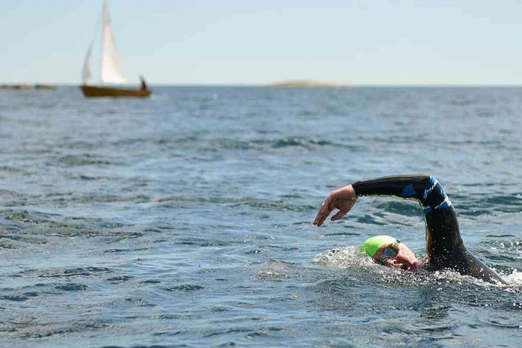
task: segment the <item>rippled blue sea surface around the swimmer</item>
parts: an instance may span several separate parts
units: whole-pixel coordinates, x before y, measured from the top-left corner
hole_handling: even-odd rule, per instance
[[[522,88],[0,90],[0,346],[519,346]],[[425,257],[419,205],[330,190],[437,177],[468,249],[509,282],[385,268]]]

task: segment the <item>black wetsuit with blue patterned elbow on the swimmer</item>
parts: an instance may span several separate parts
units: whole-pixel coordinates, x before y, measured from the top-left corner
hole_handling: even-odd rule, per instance
[[[386,176],[352,184],[357,197],[388,195],[416,200],[424,210],[429,270],[453,269],[486,282],[506,282],[466,249],[452,202],[437,179],[429,175]]]

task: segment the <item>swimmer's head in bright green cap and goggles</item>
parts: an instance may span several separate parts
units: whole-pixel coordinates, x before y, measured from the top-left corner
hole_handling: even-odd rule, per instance
[[[413,271],[419,265],[419,260],[417,260],[410,248],[397,238],[387,235],[366,239],[359,246],[359,250],[370,256],[374,261],[390,267]]]

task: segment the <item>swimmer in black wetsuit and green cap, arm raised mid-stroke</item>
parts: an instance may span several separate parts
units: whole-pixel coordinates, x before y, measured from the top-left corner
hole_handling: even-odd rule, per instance
[[[366,239],[360,245],[362,253],[389,267],[415,271],[450,269],[489,283],[506,284],[491,268],[471,255],[460,237],[457,215],[441,184],[430,175],[386,176],[368,181],[354,182],[331,191],[313,222],[321,226],[330,213],[332,221],[341,219],[360,196],[384,195],[416,200],[424,212],[426,225],[425,262],[417,259],[413,251],[398,239],[379,235]]]

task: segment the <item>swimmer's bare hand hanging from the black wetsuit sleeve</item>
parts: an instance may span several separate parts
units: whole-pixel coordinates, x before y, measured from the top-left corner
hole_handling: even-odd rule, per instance
[[[331,217],[331,221],[339,220],[352,209],[355,200],[357,200],[357,196],[355,196],[355,190],[352,185],[331,191],[330,195],[326,197],[321,205],[315,217],[314,225],[321,226],[334,209],[339,209],[339,211]]]

